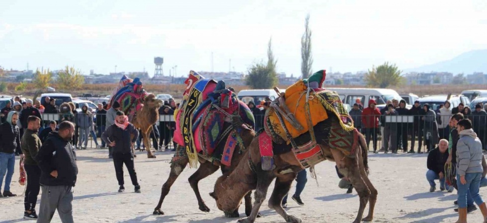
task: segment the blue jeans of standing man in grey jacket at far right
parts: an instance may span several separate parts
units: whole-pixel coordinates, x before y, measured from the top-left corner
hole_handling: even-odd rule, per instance
[[[479,194],[480,182],[482,173],[466,173],[466,184],[460,182],[460,175],[457,174],[457,186],[458,186],[458,207],[466,208],[469,198],[473,200],[477,205],[484,203],[482,197]],[[468,196],[470,194],[470,196]]]

